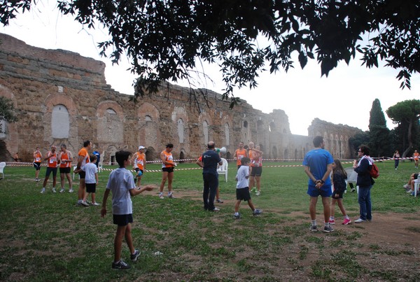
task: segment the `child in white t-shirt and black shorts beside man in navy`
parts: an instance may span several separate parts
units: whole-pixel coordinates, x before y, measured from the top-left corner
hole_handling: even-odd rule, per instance
[[[251,193],[249,192],[248,188],[250,161],[251,160],[249,157],[242,157],[241,167],[239,167],[237,176],[235,177],[235,180],[237,181],[237,202],[235,203],[235,213],[233,214],[233,218],[235,219],[241,218],[241,214],[239,213],[239,206],[241,205],[242,201],[248,201],[248,206],[251,208],[253,216],[258,216],[260,213],[262,213],[262,210],[255,209],[251,199]]]

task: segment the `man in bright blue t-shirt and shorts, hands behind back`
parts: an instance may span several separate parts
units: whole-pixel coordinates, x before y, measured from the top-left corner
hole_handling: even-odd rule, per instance
[[[331,181],[330,173],[332,171],[332,155],[328,150],[324,150],[324,140],[322,136],[315,136],[314,149],[310,150],[303,159],[304,172],[309,176],[307,194],[310,197],[309,213],[311,215],[312,232],[318,231],[316,225],[316,203],[318,196],[322,197],[323,215],[324,215],[324,228],[323,232],[329,233],[334,231],[330,226],[330,197]]]

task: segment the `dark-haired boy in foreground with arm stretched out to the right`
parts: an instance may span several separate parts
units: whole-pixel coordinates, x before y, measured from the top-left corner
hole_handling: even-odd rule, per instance
[[[136,185],[134,184],[132,172],[126,169],[130,165],[130,155],[130,152],[124,150],[116,153],[116,160],[120,167],[111,171],[102,202],[101,216],[104,218],[106,216],[106,201],[108,200],[109,193],[112,192],[113,223],[117,225],[116,237],[114,239],[113,269],[130,269],[130,265],[127,265],[121,259],[123,238],[125,238],[127,246],[130,249],[130,259],[133,262],[137,262],[140,251],[134,248],[132,239],[131,223],[133,222],[133,204],[131,197],[139,195],[146,190],[153,190],[151,185],[134,189]]]

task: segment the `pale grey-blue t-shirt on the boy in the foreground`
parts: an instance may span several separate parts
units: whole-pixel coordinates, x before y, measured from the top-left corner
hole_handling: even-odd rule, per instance
[[[125,168],[118,168],[111,171],[106,189],[112,192],[112,213],[125,215],[133,213],[133,204],[130,190],[134,189],[134,178],[131,171]]]

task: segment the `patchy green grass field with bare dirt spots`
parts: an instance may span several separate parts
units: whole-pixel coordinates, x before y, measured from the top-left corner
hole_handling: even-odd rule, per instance
[[[243,218],[232,218],[233,163],[228,183],[221,178],[225,203],[217,205],[218,213],[202,209],[199,169],[175,171],[176,199],[159,199],[158,190],[134,197],[132,235],[141,256],[137,263],[130,262],[123,245],[123,259],[132,265],[128,271],[111,269],[116,232],[111,214],[101,218],[100,207],[75,206],[76,193],[53,194],[52,178],[48,192],[41,194],[42,181],[34,181],[33,168],[6,167],[0,181],[0,281],[418,281],[418,243],[375,243],[365,227],[354,224],[336,225],[330,234],[309,232],[307,176],[302,167],[286,167],[293,164],[300,162],[264,163],[274,167],[263,168],[262,194],[253,196],[255,206],[264,211],[257,217],[243,203]],[[179,164],[178,169],[196,167]],[[420,198],[402,189],[415,172],[413,163],[400,162],[396,171],[393,162],[378,167],[373,220],[378,214],[398,213],[409,219],[405,231],[418,242]],[[148,169],[159,165],[149,164]],[[44,174],[45,167],[41,178]],[[109,171],[99,174],[100,203],[108,176]],[[158,185],[160,178],[158,172],[146,172],[142,183]],[[77,185],[76,180],[76,190]],[[108,206],[111,211],[110,201]],[[346,193],[344,206],[356,219],[356,192]],[[317,210],[321,224],[321,200]],[[341,219],[338,208],[336,216]],[[406,263],[411,271],[398,267]]]

